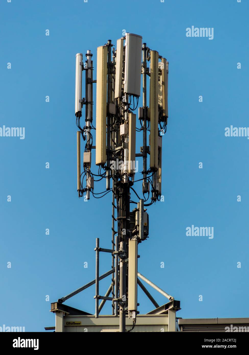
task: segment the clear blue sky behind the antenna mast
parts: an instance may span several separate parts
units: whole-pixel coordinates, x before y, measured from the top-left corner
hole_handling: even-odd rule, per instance
[[[96,48],[123,29],[169,61],[165,201],[148,210],[139,271],[181,301],[179,317],[249,317],[249,141],[224,136],[249,126],[248,10],[246,0],[1,1],[0,127],[25,127],[25,139],[0,137],[0,326],[53,326],[50,302],[94,278],[95,238],[111,247],[111,196],[77,198],[75,54],[91,49],[96,66]],[[191,26],[213,27],[213,40],[186,37]],[[213,227],[213,239],[186,236],[192,224]],[[111,257],[102,253],[100,266],[109,270]],[[92,286],[65,303],[93,313],[94,294]],[[140,290],[138,302],[140,313],[153,309]]]

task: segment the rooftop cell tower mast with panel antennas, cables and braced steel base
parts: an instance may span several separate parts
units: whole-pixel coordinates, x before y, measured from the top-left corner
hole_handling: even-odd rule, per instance
[[[147,62],[150,66],[147,67]],[[141,64],[142,63],[142,64]],[[82,73],[85,72],[85,98],[82,98]],[[142,76],[142,107],[138,118],[134,113],[139,105]],[[149,107],[147,107],[147,77],[150,78]],[[96,278],[78,290],[52,304],[52,311],[63,310],[61,304],[96,284],[95,318],[99,317],[104,303],[111,301],[112,315],[119,317],[119,331],[131,331],[136,324],[137,284],[156,307],[148,314],[168,314],[168,330],[175,330],[175,312],[180,302],[161,290],[137,271],[137,249],[149,234],[149,216],[145,207],[161,197],[162,186],[162,136],[168,119],[168,61],[150,50],[142,37],[126,33],[117,40],[114,50],[111,40],[97,48],[97,80],[93,80],[93,61],[90,50],[83,63],[82,54],[76,54],[75,116],[77,131],[77,191],[79,197],[103,197],[112,192],[112,249],[99,247],[96,239]],[[93,84],[96,83],[96,128],[93,125]],[[85,125],[82,108],[85,107]],[[137,128],[136,126],[139,126]],[[93,145],[92,130],[96,130]],[[136,134],[142,132],[143,145],[136,153]],[[81,142],[85,143],[83,169],[81,167]],[[149,143],[149,144],[148,144]],[[147,145],[148,144],[148,145]],[[98,173],[93,173],[92,149],[96,151]],[[147,158],[149,157],[149,167]],[[142,161],[142,177],[135,179],[136,158]],[[105,191],[94,192],[94,181],[106,180]],[[86,184],[84,184],[84,181]],[[112,187],[111,187],[112,181]],[[142,184],[142,191],[135,186]],[[138,182],[138,184],[135,184]],[[138,201],[131,200],[131,191]],[[139,198],[142,193],[144,198]],[[135,208],[131,210],[132,204]],[[112,269],[99,275],[99,253],[112,256]],[[105,296],[99,295],[99,281],[112,275],[112,283]],[[141,283],[139,278],[163,294],[169,302],[161,307]],[[99,304],[99,301],[101,303]],[[66,312],[64,312],[65,314]],[[70,313],[70,312],[68,312]],[[127,317],[128,316],[128,317]],[[126,319],[132,327],[126,329]]]

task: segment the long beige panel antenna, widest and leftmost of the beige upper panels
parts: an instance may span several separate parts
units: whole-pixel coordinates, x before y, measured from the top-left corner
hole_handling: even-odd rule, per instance
[[[96,165],[106,162],[107,47],[97,48]]]

